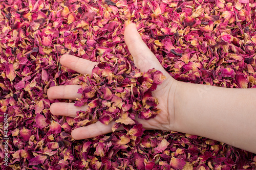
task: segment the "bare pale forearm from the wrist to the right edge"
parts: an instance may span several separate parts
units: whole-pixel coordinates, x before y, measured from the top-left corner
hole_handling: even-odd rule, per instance
[[[256,89],[179,82],[174,130],[256,153]]]

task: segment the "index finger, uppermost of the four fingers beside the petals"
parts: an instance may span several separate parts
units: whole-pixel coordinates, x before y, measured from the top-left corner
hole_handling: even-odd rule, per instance
[[[78,58],[69,54],[65,54],[60,58],[60,64],[74,71],[79,72],[80,74],[91,74],[93,67],[98,63],[92,62],[90,60]]]

